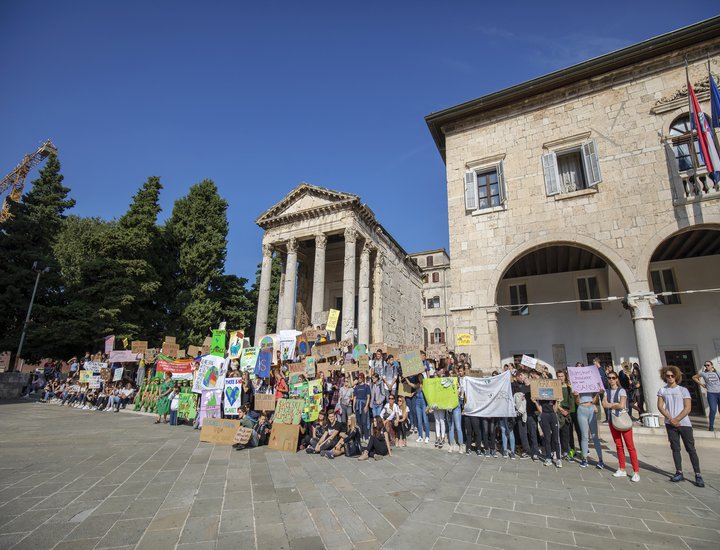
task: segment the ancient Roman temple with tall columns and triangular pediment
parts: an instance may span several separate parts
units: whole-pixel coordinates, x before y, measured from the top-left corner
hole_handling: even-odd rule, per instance
[[[325,324],[357,343],[422,341],[420,270],[360,197],[301,183],[256,223],[265,231],[255,338],[267,333],[272,254],[282,258],[277,329]]]

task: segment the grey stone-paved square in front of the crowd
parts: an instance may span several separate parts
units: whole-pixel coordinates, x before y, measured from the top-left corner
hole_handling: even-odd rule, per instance
[[[610,469],[422,447],[378,462],[237,452],[147,416],[32,402],[0,404],[0,419],[0,549],[714,550],[720,539],[715,439],[699,443],[699,489],[668,481],[661,438],[642,444],[632,484]]]

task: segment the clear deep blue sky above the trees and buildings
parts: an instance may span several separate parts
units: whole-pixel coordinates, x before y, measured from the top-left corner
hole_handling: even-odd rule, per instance
[[[0,172],[51,138],[73,213],[114,218],[148,176],[229,202],[226,270],[301,181],[356,193],[408,252],[447,247],[425,115],[717,15],[717,2],[0,3]],[[32,173],[28,178],[36,176]]]

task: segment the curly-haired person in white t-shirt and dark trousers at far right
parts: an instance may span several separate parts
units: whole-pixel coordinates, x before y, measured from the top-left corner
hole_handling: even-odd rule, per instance
[[[657,407],[660,414],[665,417],[665,429],[670,441],[673,462],[675,462],[675,475],[670,478],[670,481],[677,483],[685,479],[682,473],[682,455],[680,454],[680,440],[682,439],[695,472],[695,485],[705,487],[705,482],[700,474],[700,459],[695,450],[692,424],[688,417],[692,408],[690,392],[687,388],[679,385],[682,381],[682,373],[676,366],[668,365],[661,368],[660,377],[665,380],[665,386],[658,391]]]

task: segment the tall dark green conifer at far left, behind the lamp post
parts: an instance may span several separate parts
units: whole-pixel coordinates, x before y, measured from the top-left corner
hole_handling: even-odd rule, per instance
[[[63,185],[60,161],[50,155],[22,202],[11,205],[12,218],[0,227],[0,349],[18,346],[36,279],[33,263],[49,268],[40,277],[28,324],[23,357],[29,360],[64,349],[63,334],[54,324],[64,317],[66,303],[53,245],[65,211],[75,205],[69,193]]]

